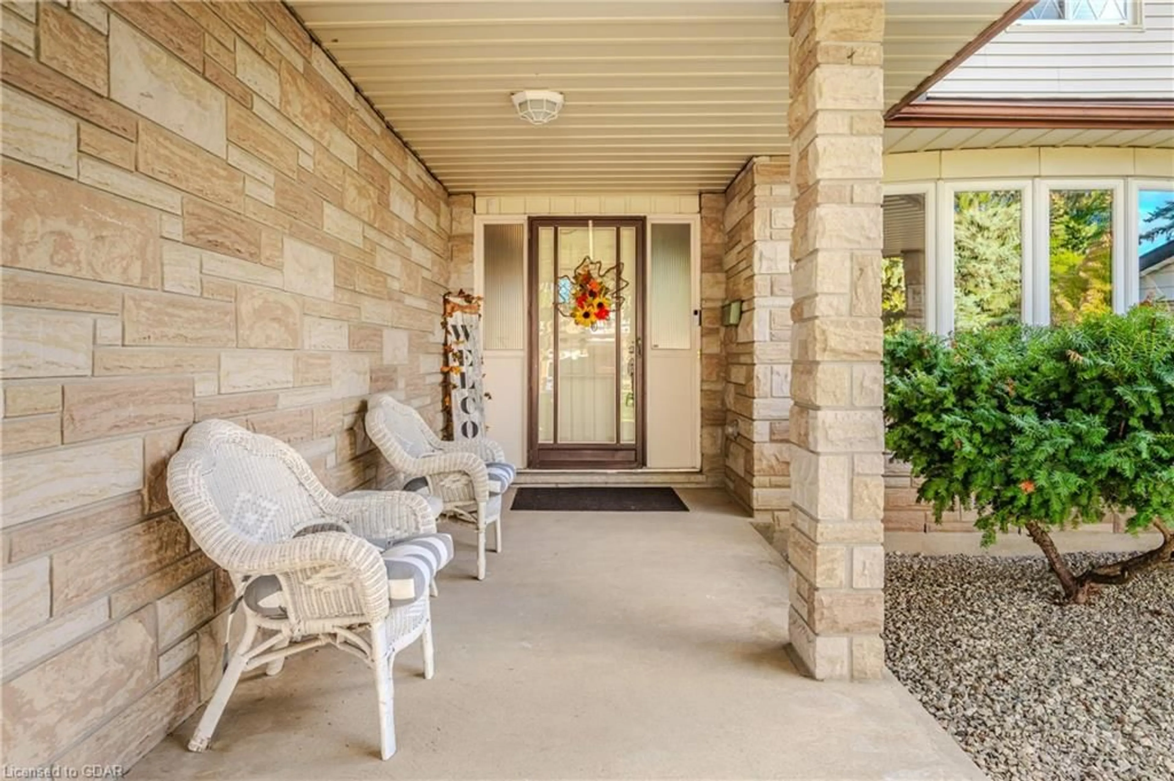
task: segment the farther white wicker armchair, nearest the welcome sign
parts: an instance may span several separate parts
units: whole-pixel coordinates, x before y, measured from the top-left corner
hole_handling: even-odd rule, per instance
[[[486,532],[493,526],[500,553],[501,498],[514,477],[501,445],[484,437],[441,440],[419,412],[387,393],[367,399],[366,433],[406,490],[426,490],[444,503],[444,513],[477,526],[477,579],[484,580]]]

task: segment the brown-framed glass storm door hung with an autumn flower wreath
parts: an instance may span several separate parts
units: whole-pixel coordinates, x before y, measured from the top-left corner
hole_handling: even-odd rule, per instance
[[[642,466],[643,220],[532,218],[529,242],[529,466]]]

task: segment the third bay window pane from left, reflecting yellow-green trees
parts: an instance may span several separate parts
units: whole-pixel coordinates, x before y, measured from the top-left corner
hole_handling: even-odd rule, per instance
[[[1052,322],[1113,309],[1112,190],[1052,190]]]

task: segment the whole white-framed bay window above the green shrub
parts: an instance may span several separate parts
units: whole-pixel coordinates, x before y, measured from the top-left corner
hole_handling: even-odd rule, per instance
[[[1174,307],[1174,180],[902,183],[884,218],[890,334]]]

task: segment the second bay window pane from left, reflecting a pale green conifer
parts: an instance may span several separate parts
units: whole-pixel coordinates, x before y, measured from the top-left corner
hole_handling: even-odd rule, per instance
[[[1023,296],[1018,190],[954,195],[954,329],[1019,321]]]

